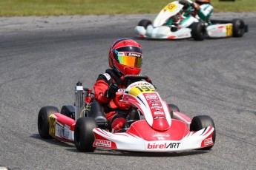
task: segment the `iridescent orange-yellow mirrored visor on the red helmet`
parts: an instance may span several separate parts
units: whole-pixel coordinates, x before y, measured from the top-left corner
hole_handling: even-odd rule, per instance
[[[114,57],[119,64],[128,67],[140,68],[142,65],[142,54],[131,52],[118,52],[117,54],[114,54]]]

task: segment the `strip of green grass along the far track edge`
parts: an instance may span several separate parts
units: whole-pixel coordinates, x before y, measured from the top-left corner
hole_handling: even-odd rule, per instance
[[[159,13],[162,0],[1,0],[0,16],[69,16]],[[211,0],[214,12],[256,12],[256,1]]]

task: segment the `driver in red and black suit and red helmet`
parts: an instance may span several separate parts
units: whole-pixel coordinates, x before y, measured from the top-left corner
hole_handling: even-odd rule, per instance
[[[118,89],[128,86],[114,84],[122,75],[139,75],[142,66],[142,49],[134,40],[122,38],[113,42],[108,55],[109,67],[104,74],[99,75],[94,84],[95,98],[102,106],[108,120],[108,128],[118,131],[125,124],[128,112],[117,109],[113,98],[116,98]]]

